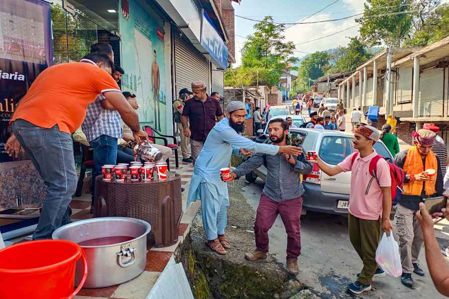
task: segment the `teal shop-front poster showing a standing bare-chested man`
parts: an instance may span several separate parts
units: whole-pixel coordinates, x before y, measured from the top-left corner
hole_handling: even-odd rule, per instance
[[[140,122],[166,133],[164,32],[162,20],[134,0],[120,2],[122,90],[137,96]],[[126,7],[127,6],[127,7]]]

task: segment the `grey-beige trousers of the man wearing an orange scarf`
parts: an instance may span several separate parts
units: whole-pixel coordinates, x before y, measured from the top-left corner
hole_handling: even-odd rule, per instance
[[[393,233],[399,243],[401,254],[402,272],[412,273],[413,264],[418,263],[424,239],[422,230],[415,215],[416,211],[397,205]]]

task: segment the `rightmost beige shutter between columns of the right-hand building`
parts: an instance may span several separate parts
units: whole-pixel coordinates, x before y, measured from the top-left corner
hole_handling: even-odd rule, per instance
[[[419,76],[419,116],[442,116],[444,68],[431,68]]]

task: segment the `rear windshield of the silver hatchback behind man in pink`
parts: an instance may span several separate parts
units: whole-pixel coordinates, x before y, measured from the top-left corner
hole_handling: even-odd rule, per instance
[[[351,140],[352,138],[344,136],[324,137],[319,151],[320,158],[329,164],[342,162],[346,157],[356,151],[353,148]],[[379,155],[390,162],[392,161],[390,152],[382,142],[376,142],[373,147]]]

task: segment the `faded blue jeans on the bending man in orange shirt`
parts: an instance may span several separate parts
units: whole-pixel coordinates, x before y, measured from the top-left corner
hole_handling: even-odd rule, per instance
[[[69,203],[78,181],[73,141],[57,125],[47,129],[23,119],[13,122],[13,132],[47,186],[33,240],[51,239],[54,230],[71,222]]]

